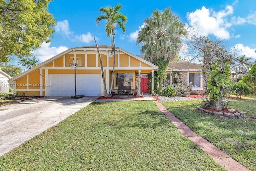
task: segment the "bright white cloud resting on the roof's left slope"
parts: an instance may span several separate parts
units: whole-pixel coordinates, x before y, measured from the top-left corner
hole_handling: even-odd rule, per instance
[[[44,62],[65,50],[68,50],[66,46],[50,47],[51,43],[43,43],[40,48],[33,50],[32,53],[39,60],[39,62]]]

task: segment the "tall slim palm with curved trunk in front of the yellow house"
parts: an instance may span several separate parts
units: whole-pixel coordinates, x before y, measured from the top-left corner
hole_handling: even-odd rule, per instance
[[[112,87],[114,84],[114,72],[115,72],[115,63],[116,63],[116,46],[115,46],[115,35],[116,35],[116,27],[119,26],[123,34],[125,33],[125,26],[124,24],[127,22],[127,17],[120,13],[119,10],[122,8],[120,4],[117,4],[115,7],[101,7],[100,8],[100,16],[96,18],[96,24],[100,26],[101,20],[106,20],[106,28],[105,32],[108,36],[108,38],[111,38],[111,54],[114,55],[114,62],[113,62],[113,72],[112,72],[112,78],[111,78],[111,86],[109,90],[109,96],[112,93]]]

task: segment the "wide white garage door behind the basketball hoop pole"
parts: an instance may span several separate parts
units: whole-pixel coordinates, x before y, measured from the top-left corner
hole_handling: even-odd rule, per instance
[[[98,96],[100,94],[99,74],[77,74],[76,95]],[[49,74],[50,96],[75,95],[74,74]]]

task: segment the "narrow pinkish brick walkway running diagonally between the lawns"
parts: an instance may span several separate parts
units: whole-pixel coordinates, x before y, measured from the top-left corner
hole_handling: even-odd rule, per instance
[[[170,113],[162,103],[158,101],[154,101],[158,107],[158,109],[166,115],[168,119],[172,121],[172,123],[178,128],[178,130],[188,137],[191,141],[193,141],[200,149],[202,149],[206,154],[210,155],[214,161],[220,164],[224,169],[228,171],[250,171],[231,157],[229,157],[226,153],[215,147],[212,143],[207,141],[206,139],[198,136],[194,131],[190,129],[187,125],[185,125],[180,119],[174,116],[174,114]]]

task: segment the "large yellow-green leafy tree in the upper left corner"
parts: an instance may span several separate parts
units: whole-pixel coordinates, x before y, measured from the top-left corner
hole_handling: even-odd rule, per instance
[[[31,49],[50,42],[56,19],[48,12],[51,0],[0,1],[0,62],[9,56],[31,55]]]

